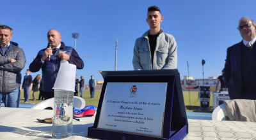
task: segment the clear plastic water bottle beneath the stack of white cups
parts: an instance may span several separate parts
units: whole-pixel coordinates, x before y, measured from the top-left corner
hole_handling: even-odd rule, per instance
[[[52,137],[70,137],[73,131],[74,92],[54,89],[54,116],[52,120]]]

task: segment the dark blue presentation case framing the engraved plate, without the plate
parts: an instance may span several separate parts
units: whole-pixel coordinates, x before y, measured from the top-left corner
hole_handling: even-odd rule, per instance
[[[150,71],[100,71],[104,84],[99,99],[97,115],[92,127],[88,128],[88,137],[98,139],[183,139],[188,134],[188,119],[177,69]],[[167,82],[166,101],[164,109],[163,137],[152,137],[143,134],[97,129],[100,110],[106,85],[108,82]],[[150,88],[150,87],[148,87]]]

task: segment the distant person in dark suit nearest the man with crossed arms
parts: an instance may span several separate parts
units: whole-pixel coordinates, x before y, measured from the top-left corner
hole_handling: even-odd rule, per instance
[[[29,88],[32,82],[33,82],[32,76],[30,75],[29,69],[27,69],[26,75],[24,76],[23,83],[22,83],[22,88],[24,90],[24,98],[25,98],[24,103],[28,103],[29,101]]]

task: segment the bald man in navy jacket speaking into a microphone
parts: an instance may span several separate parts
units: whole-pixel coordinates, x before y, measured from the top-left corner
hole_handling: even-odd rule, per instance
[[[71,46],[66,46],[61,42],[60,32],[51,29],[47,33],[48,46],[40,50],[36,58],[31,62],[29,70],[33,73],[42,68],[42,81],[45,100],[54,97],[54,86],[58,75],[61,61],[67,61],[76,65],[77,69],[83,69],[83,60],[79,57],[76,50]]]

